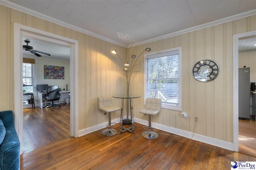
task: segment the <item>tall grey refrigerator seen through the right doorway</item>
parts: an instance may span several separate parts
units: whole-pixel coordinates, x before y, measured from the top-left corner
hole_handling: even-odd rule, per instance
[[[250,119],[250,67],[238,68],[238,117]]]

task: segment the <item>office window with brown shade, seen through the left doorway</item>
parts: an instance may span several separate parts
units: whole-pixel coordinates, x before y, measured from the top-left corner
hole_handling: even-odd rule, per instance
[[[23,58],[22,74],[23,74],[23,92],[33,92],[33,65],[34,59]]]

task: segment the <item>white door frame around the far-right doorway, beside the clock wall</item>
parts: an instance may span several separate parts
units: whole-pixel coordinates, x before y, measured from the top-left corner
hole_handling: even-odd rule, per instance
[[[238,152],[238,40],[256,35],[256,31],[233,35],[233,149]]]

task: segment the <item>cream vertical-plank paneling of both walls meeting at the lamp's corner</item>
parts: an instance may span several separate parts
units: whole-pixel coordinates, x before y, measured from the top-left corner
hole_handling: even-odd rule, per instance
[[[50,33],[78,40],[78,129],[86,129],[108,121],[98,110],[97,97],[125,92],[125,77],[119,59],[110,53],[116,49],[122,59],[140,54],[146,47],[152,52],[182,47],[182,111],[162,109],[152,121],[193,131],[194,116],[199,122],[196,133],[223,141],[233,141],[233,35],[256,30],[256,16],[215,25],[126,49],[107,41],[74,31],[40,18],[0,5],[0,110],[14,110],[14,22]],[[201,59],[212,59],[220,67],[218,77],[208,83],[196,81],[192,67]],[[144,100],[144,58],[140,58],[140,72],[133,75],[131,92],[143,97],[134,102],[134,117],[145,119],[138,113]],[[119,100],[114,103],[119,104]],[[112,119],[119,114],[113,114]]]

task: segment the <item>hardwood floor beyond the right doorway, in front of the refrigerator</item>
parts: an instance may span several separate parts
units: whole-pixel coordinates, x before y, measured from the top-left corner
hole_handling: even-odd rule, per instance
[[[240,153],[256,157],[256,121],[239,119],[238,150]]]

